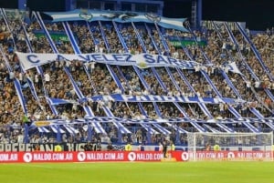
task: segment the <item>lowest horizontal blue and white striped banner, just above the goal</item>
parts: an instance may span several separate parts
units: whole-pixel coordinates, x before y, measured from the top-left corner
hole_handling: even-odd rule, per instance
[[[72,120],[62,120],[62,119],[55,119],[55,120],[49,120],[49,121],[36,121],[36,127],[38,128],[39,132],[45,132],[48,133],[49,130],[47,130],[47,127],[50,127],[53,132],[55,133],[65,133],[61,127],[65,127],[68,133],[71,134],[77,134],[79,133],[78,128],[71,127],[73,124],[82,124],[87,127],[90,127],[91,124],[94,122],[96,123],[110,123],[112,122],[116,127],[119,127],[118,124],[139,124],[142,127],[144,127],[146,130],[150,131],[151,134],[158,134],[156,130],[154,130],[152,127],[148,127],[147,125],[153,125],[153,127],[156,127],[158,130],[161,131],[163,134],[169,134],[170,131],[164,129],[161,127],[159,124],[165,123],[168,125],[168,127],[173,127],[173,123],[191,123],[193,124],[194,127],[196,127],[198,130],[199,129],[205,129],[203,127],[200,127],[198,123],[203,123],[204,127],[208,128],[209,131],[212,131],[214,133],[218,133],[218,130],[216,128],[207,126],[206,124],[215,124],[218,127],[223,128],[225,131],[232,133],[234,132],[233,129],[227,127],[226,125],[228,124],[235,124],[235,123],[261,123],[261,124],[267,124],[269,127],[274,129],[273,127],[273,122],[274,119],[273,117],[269,118],[224,118],[224,119],[196,119],[196,118],[189,118],[189,117],[173,117],[173,118],[142,118],[142,119],[133,119],[133,118],[120,118],[120,117],[85,117],[82,119],[72,119]],[[88,130],[88,128],[86,130]],[[119,127],[120,128],[120,127]],[[176,130],[180,130],[180,133],[188,133],[184,129],[180,127],[175,127]],[[128,129],[127,129],[128,130]],[[166,130],[166,131],[163,131]],[[200,130],[199,130],[200,131]],[[205,130],[201,130],[202,132],[206,132]],[[101,133],[100,131],[96,131],[97,133]],[[131,131],[129,131],[132,133]]]

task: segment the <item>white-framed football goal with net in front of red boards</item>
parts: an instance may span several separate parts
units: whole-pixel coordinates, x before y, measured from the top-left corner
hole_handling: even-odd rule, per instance
[[[188,160],[273,160],[273,133],[188,133]]]

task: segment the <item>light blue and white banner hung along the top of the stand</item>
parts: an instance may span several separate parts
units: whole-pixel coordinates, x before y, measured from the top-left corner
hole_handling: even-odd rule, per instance
[[[115,21],[119,23],[145,22],[156,23],[164,28],[171,28],[188,32],[184,27],[186,18],[167,18],[150,13],[121,12],[121,11],[96,11],[76,9],[69,12],[46,12],[53,18],[53,22],[64,21]]]

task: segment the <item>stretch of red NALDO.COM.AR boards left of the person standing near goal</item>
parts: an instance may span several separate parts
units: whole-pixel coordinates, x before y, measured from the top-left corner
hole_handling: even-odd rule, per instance
[[[161,161],[156,151],[90,151],[90,152],[1,152],[0,163],[29,162],[96,162],[96,161]]]

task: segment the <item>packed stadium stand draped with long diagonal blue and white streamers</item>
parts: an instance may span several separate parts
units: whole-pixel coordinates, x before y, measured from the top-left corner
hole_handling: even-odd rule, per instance
[[[232,30],[215,21],[201,31],[142,21],[53,22],[39,12],[26,21],[26,12],[3,8],[0,24],[0,143],[186,145],[188,132],[274,129],[273,29],[252,35],[238,23]],[[198,65],[60,57],[25,70],[18,53],[147,54]]]

